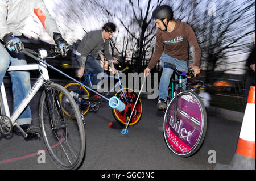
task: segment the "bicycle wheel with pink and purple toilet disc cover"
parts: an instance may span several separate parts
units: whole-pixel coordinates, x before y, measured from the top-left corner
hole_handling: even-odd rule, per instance
[[[196,153],[207,131],[207,113],[204,103],[192,91],[177,94],[177,120],[175,123],[175,98],[168,104],[164,115],[164,140],[172,153],[189,157]]]

